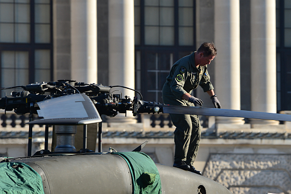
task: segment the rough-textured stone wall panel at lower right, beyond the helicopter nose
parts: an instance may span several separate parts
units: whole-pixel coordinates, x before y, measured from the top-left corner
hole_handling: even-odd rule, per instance
[[[291,193],[291,155],[210,154],[203,176],[234,194]]]

